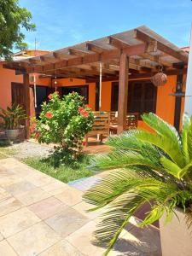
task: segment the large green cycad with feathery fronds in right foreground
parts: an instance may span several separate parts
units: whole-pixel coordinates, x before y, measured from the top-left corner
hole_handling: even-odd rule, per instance
[[[143,114],[153,130],[131,130],[109,137],[109,154],[96,157],[92,166],[115,169],[84,195],[96,210],[108,205],[96,238],[106,243],[106,254],[117,241],[131,216],[148,202],[151,210],[139,224],[153,224],[165,214],[166,222],[180,207],[192,226],[192,119],[185,116],[181,135],[154,113]],[[153,202],[153,203],[152,203]]]

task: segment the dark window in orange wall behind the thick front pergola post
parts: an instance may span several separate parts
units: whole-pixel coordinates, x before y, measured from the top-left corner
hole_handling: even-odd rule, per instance
[[[127,112],[148,113],[156,108],[156,87],[150,81],[129,82]],[[118,110],[119,83],[112,83],[111,110]]]

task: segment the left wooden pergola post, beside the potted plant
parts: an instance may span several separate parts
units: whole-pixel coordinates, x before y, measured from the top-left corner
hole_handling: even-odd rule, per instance
[[[26,139],[30,137],[30,83],[29,83],[29,74],[23,74],[23,84],[25,90],[25,106],[26,106]]]

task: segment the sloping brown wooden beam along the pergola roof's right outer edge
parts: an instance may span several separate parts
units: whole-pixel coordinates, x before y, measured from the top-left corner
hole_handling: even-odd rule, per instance
[[[150,36],[148,36],[148,34],[138,29],[135,29],[135,38],[137,38],[137,40],[140,40],[148,44],[151,44],[151,42],[154,42],[155,40],[154,38],[151,38]],[[179,61],[183,61],[184,63],[187,63],[188,57],[181,54],[182,50],[178,52],[172,49],[171,47],[167,46],[166,44],[160,43],[160,41],[156,41],[156,42],[157,42],[157,49],[160,49],[160,51],[166,53],[167,55],[172,55],[172,57],[176,58]]]

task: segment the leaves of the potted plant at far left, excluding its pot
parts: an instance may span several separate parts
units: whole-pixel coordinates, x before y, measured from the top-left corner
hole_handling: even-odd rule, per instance
[[[3,125],[6,130],[15,130],[20,128],[20,121],[26,119],[26,112],[20,105],[13,104],[7,109],[0,108],[0,118],[3,119]]]

